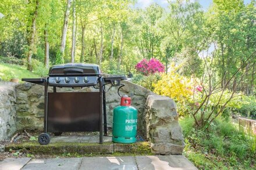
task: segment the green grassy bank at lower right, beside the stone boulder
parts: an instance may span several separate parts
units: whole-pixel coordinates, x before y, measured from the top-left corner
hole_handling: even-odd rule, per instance
[[[239,131],[228,120],[216,120],[207,130],[195,129],[190,117],[180,125],[184,155],[198,169],[256,169],[256,136]]]

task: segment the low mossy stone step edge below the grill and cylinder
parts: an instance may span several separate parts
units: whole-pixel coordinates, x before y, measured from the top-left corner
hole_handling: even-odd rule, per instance
[[[5,146],[5,151],[20,150],[22,153],[63,155],[63,154],[116,154],[129,153],[146,155],[151,154],[148,142],[136,142],[133,144],[120,144],[112,142],[80,143],[80,142],[54,142],[41,145],[38,142],[12,143]]]

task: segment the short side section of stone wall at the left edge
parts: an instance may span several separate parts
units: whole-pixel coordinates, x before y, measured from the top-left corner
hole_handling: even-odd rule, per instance
[[[0,141],[16,132],[15,88],[0,86]]]

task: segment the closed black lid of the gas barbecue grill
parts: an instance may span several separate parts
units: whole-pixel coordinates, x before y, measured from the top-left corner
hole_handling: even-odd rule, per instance
[[[49,68],[49,75],[72,75],[87,74],[99,75],[99,66],[97,64],[69,63],[56,65]]]

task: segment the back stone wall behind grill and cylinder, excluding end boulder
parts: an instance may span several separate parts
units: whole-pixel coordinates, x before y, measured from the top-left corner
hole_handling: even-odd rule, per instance
[[[144,104],[147,96],[152,92],[141,86],[133,84],[129,81],[122,81],[125,84],[120,89],[121,95],[128,95],[131,97],[131,104],[138,110],[138,129],[141,134],[145,134],[145,116]],[[106,112],[107,112],[107,126],[112,128],[113,108],[120,104],[120,97],[118,95],[119,87],[110,88],[106,86]],[[51,92],[52,89],[49,88]],[[98,89],[83,88],[57,88],[57,92],[95,92]],[[17,109],[17,127],[18,129],[30,129],[42,131],[44,120],[44,86],[24,83],[16,85],[16,109]]]

